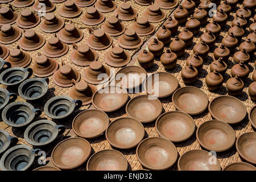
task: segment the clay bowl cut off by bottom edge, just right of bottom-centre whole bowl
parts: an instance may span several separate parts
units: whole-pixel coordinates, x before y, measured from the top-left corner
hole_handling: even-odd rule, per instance
[[[180,156],[177,167],[179,171],[220,171],[218,159],[215,164],[210,164],[213,155],[205,150],[191,150]]]

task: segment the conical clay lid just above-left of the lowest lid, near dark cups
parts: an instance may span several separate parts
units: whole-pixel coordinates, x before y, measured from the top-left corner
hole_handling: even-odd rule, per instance
[[[61,67],[53,74],[53,82],[61,87],[72,86],[72,79],[78,82],[81,78],[81,75],[77,69],[72,68],[71,66],[61,61]]]

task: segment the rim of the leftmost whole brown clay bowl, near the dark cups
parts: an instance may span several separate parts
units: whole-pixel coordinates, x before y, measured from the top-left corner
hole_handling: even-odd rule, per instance
[[[77,163],[77,164],[75,164],[75,165],[60,166],[59,164],[56,164],[55,161],[54,161],[54,159],[53,159],[53,153],[57,150],[57,147],[59,147],[59,145],[60,145],[61,143],[67,142],[67,141],[69,141],[69,140],[74,140],[74,139],[75,139],[75,140],[76,140],[76,139],[83,140],[86,144],[88,144],[88,146],[89,146],[89,148],[90,148],[90,149],[89,149],[89,154],[88,154],[88,156],[86,156],[84,159],[82,159],[80,163]],[[82,149],[84,150],[85,147],[82,148]],[[84,151],[85,151],[85,150],[84,150]],[[81,166],[83,163],[85,163],[85,161],[89,158],[91,152],[92,152],[92,147],[90,146],[90,143],[89,143],[86,139],[80,138],[80,137],[71,137],[71,138],[67,138],[67,139],[62,140],[60,143],[58,143],[58,144],[53,148],[52,154],[51,154],[51,160],[52,160],[53,165],[56,166],[57,168],[60,168],[60,169],[73,169],[73,168],[79,167],[79,166]]]

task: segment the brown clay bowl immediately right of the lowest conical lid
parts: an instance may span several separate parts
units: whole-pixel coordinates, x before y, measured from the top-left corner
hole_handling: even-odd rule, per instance
[[[128,98],[127,90],[119,86],[106,86],[94,93],[92,104],[96,109],[112,112],[125,105]]]

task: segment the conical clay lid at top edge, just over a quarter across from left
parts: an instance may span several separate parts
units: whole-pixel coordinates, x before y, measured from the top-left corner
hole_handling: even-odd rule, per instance
[[[64,18],[76,18],[82,14],[82,9],[77,7],[74,1],[68,0],[64,2],[64,5],[58,10],[58,13]]]

